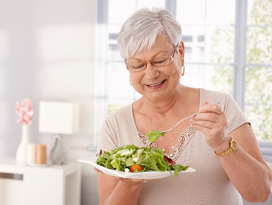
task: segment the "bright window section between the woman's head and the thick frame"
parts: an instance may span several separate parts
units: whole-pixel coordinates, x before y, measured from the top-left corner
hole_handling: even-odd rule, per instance
[[[189,58],[185,50],[182,83],[233,94],[235,0],[181,0],[176,4],[183,39],[192,36],[191,41],[184,40],[191,50]]]

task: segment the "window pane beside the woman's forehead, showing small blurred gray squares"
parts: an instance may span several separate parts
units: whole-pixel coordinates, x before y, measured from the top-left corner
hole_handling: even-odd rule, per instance
[[[182,25],[181,25],[182,26]],[[185,47],[185,63],[233,63],[234,27],[182,26]]]

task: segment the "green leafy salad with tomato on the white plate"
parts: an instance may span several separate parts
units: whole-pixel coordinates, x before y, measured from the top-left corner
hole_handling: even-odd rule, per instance
[[[111,151],[100,151],[96,163],[112,170],[124,172],[174,171],[175,179],[178,173],[189,166],[175,163],[164,155],[160,148],[137,147],[127,145]]]

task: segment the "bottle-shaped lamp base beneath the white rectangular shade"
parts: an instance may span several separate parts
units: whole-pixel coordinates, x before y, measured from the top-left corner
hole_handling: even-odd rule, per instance
[[[54,146],[51,150],[50,158],[53,165],[63,165],[66,163],[66,152],[60,134],[54,136]]]

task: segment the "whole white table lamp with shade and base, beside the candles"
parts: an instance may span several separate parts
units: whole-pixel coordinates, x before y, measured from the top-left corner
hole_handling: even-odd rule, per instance
[[[79,104],[60,101],[40,101],[39,132],[53,133],[54,146],[50,153],[53,164],[63,164],[66,151],[61,134],[79,131]]]

